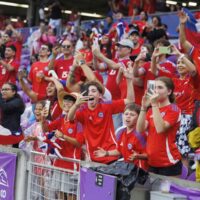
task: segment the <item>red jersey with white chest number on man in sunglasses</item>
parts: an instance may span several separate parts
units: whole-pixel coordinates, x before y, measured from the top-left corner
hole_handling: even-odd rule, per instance
[[[65,60],[64,59],[55,60],[54,69],[60,80],[66,81],[70,68],[72,67],[73,61],[74,61],[73,57]],[[82,76],[82,70],[80,68],[77,68],[75,71],[75,77],[77,82],[80,81],[81,76]]]

